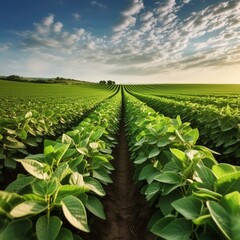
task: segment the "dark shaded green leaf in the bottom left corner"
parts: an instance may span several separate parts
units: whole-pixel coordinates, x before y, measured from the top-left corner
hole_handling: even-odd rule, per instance
[[[32,227],[32,222],[28,218],[13,220],[0,232],[0,239],[29,239],[26,236],[28,235]]]

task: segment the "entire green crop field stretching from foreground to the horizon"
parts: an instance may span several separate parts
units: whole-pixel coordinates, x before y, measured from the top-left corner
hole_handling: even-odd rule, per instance
[[[0,86],[0,239],[238,239],[239,85]]]

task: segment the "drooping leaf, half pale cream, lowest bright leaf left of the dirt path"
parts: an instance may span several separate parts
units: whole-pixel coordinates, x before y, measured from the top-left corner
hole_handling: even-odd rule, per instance
[[[64,216],[79,230],[89,232],[87,214],[83,203],[74,196],[66,196],[61,201]]]

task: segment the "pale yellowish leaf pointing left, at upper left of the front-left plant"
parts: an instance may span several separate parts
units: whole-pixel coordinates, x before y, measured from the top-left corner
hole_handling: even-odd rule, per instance
[[[50,176],[46,171],[47,165],[33,159],[19,159],[25,170],[38,179],[48,179]]]

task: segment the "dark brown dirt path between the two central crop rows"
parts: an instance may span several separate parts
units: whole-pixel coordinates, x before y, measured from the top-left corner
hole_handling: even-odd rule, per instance
[[[123,112],[122,112],[123,116]],[[129,159],[124,120],[120,123],[118,146],[115,150],[111,175],[113,183],[106,186],[103,205],[106,221],[98,220],[91,234],[91,240],[153,240],[147,232],[150,217],[144,196],[133,183],[134,165]]]

